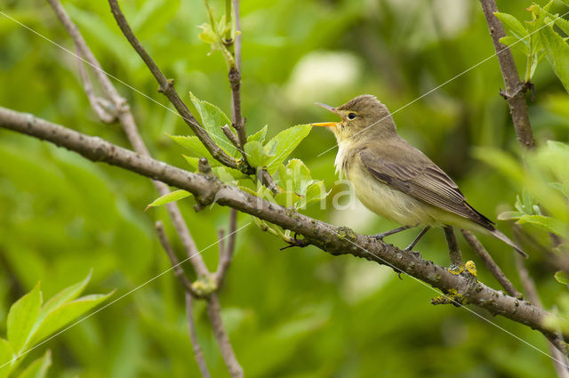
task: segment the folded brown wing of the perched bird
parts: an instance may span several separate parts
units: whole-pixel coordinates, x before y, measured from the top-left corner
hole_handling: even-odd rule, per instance
[[[493,221],[466,202],[461,190],[443,170],[403,139],[364,146],[358,155],[368,172],[382,183],[486,229],[494,229]]]

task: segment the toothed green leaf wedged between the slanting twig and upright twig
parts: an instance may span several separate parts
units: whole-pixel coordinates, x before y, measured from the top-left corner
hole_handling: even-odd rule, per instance
[[[231,125],[229,118],[212,103],[199,100],[194,93],[189,92],[189,97],[196,107],[199,117],[202,118],[202,126],[204,126],[205,131],[212,136],[212,140],[220,145],[221,149],[234,156],[236,148],[226,139],[225,134],[221,130],[221,127],[224,125]]]

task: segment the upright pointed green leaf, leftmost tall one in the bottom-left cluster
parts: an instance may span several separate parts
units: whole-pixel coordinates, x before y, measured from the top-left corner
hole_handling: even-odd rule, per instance
[[[20,354],[28,344],[28,339],[39,315],[42,306],[42,292],[40,292],[39,286],[38,283],[31,292],[12,304],[8,312],[8,342],[16,354]]]

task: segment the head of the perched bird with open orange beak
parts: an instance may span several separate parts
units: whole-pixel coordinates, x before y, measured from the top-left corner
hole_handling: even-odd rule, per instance
[[[357,96],[337,108],[319,102],[317,105],[341,117],[341,122],[312,124],[329,127],[339,143],[348,139],[357,141],[371,135],[388,137],[396,133],[396,125],[389,110],[371,94]]]

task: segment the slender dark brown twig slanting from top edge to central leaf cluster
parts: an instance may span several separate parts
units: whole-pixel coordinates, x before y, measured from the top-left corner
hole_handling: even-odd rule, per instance
[[[160,84],[160,92],[164,93],[164,95],[172,102],[172,105],[180,116],[186,121],[186,124],[189,126],[190,129],[196,134],[200,141],[204,144],[205,148],[212,154],[212,157],[215,157],[217,160],[220,161],[221,164],[227,165],[230,168],[238,169],[236,165],[236,161],[233,157],[229,157],[227,153],[223,149],[217,145],[215,141],[212,140],[210,135],[204,130],[204,128],[199,125],[196,118],[191,114],[188,107],[181,101],[178,92],[174,89],[173,80],[168,80],[166,76],[162,73],[160,68],[156,65],[156,62],[152,60],[148,52],[144,49],[142,44],[134,33],[132,32],[131,27],[129,26],[128,22],[124,18],[124,14],[121,11],[120,7],[116,0],[108,0],[108,4],[110,4],[111,12],[115,17],[116,23],[118,27],[121,28],[123,31],[124,36],[128,40],[128,42],[132,45],[134,50],[138,52],[140,58],[144,60],[144,63],[147,65],[148,69],[152,73],[152,75],[156,78],[158,84]]]

